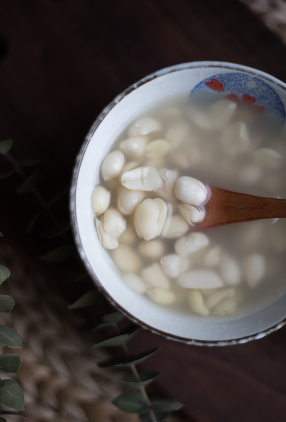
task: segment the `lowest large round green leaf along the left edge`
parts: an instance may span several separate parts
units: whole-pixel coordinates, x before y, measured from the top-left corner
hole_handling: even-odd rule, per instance
[[[0,403],[16,410],[24,410],[24,394],[19,384],[11,379],[0,381]]]

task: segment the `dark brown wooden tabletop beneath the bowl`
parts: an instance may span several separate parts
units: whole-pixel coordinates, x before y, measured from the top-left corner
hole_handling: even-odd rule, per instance
[[[285,58],[283,43],[237,0],[0,0],[0,138],[14,139],[16,158],[43,160],[41,190],[50,197],[69,183],[97,114],[132,82],[194,60],[236,62],[286,81]],[[1,231],[51,278],[36,258],[44,246],[24,236],[36,204],[7,183]],[[156,385],[183,401],[188,420],[286,420],[286,328],[215,348],[143,331],[131,346],[162,346],[146,366],[162,372]]]

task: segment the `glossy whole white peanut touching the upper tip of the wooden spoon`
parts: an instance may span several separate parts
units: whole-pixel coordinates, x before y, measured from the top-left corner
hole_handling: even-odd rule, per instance
[[[189,176],[182,176],[176,181],[175,195],[187,204],[200,205],[207,199],[208,191],[199,180]]]

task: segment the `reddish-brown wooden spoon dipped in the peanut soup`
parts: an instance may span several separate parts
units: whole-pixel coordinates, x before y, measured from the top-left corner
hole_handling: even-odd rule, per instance
[[[263,218],[285,218],[286,199],[264,198],[209,187],[211,196],[205,204],[205,218],[196,230]]]

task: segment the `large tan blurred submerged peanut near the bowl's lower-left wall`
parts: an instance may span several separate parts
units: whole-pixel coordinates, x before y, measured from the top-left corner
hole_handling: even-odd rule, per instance
[[[113,261],[123,273],[137,273],[142,268],[138,254],[126,243],[120,243],[113,251]]]

